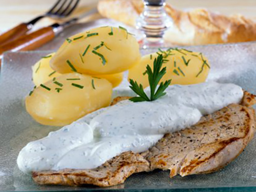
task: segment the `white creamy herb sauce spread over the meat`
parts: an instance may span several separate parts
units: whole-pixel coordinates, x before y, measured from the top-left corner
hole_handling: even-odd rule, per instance
[[[121,101],[28,143],[17,159],[20,170],[92,169],[122,152],[145,151],[164,133],[196,124],[243,97],[241,87],[215,82],[172,85],[165,92],[155,101]]]

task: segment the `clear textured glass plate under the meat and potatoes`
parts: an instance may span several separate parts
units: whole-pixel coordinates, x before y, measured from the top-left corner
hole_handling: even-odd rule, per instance
[[[189,47],[187,47],[189,49]],[[256,93],[256,43],[194,46],[211,63],[208,81],[232,82]],[[141,50],[142,55],[156,50]],[[4,54],[0,76],[0,191],[256,191],[256,138],[224,169],[211,174],[169,178],[169,171],[137,173],[109,188],[37,185],[20,172],[16,158],[29,141],[58,127],[36,123],[26,112],[24,98],[33,88],[31,66],[49,51]],[[127,82],[126,82],[127,83]],[[125,81],[123,82],[123,88]],[[122,86],[121,86],[122,87]],[[124,88],[125,89],[125,88]],[[116,92],[116,94],[119,94]]]

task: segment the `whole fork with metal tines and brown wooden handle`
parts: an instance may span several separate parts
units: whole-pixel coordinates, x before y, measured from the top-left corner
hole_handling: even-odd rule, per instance
[[[20,23],[16,27],[0,35],[0,46],[9,43],[22,35],[25,35],[39,20],[44,17],[56,19],[65,18],[76,8],[79,0],[58,0],[51,9],[43,15],[37,16],[27,23]]]

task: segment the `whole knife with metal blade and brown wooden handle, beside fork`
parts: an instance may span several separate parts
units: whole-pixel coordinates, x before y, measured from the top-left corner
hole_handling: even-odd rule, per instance
[[[30,51],[34,50],[43,44],[51,41],[55,36],[62,32],[65,28],[75,24],[78,20],[96,13],[97,8],[93,8],[88,12],[80,15],[79,17],[72,18],[64,23],[54,23],[48,27],[40,28],[28,35],[21,36],[20,38],[0,46],[0,66],[3,58],[3,53],[6,51],[17,52],[17,51]]]

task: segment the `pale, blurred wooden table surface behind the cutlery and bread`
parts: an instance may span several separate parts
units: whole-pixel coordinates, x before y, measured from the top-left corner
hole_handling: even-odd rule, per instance
[[[243,14],[245,17],[256,20],[256,0],[166,0],[177,8],[204,7],[211,11],[223,14]],[[40,13],[48,10],[55,0],[1,0],[0,6],[0,31],[26,22]],[[98,0],[80,0],[79,7],[73,16],[86,11],[89,7],[96,6]],[[99,17],[95,15],[95,17]],[[87,18],[88,19],[88,18]],[[44,19],[37,27],[53,23],[53,20]]]

